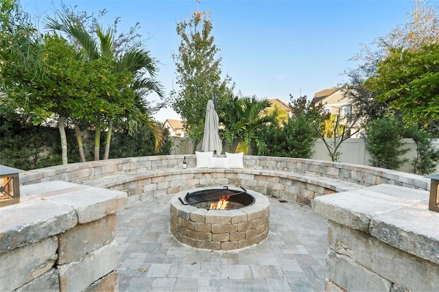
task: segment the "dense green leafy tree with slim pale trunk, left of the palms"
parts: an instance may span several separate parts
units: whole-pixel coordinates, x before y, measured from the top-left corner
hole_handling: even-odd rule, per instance
[[[62,145],[62,162],[67,164],[67,138],[64,123],[73,119],[91,119],[95,112],[111,111],[115,116],[129,108],[133,98],[130,90],[123,88],[127,73],[113,73],[104,60],[82,62],[56,34],[45,34],[40,45],[35,45],[33,58],[27,65],[11,62],[2,70],[7,82],[5,93],[14,97],[14,107],[33,115],[33,123],[44,119],[58,119]],[[103,98],[111,95],[121,99],[119,108]],[[132,95],[132,93],[131,93]],[[134,95],[132,95],[134,96]]]

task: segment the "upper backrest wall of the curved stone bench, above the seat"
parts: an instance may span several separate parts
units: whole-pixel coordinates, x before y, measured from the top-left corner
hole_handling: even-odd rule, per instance
[[[195,167],[195,155],[185,156],[187,167]],[[183,155],[143,156],[58,165],[20,173],[20,181],[22,184],[34,184],[51,180],[83,183],[100,180],[112,175],[128,175],[144,171],[158,171],[165,174],[167,169],[181,169],[183,157]],[[335,178],[361,186],[392,184],[429,190],[430,184],[430,180],[411,173],[303,158],[244,156],[244,167],[255,170],[287,171],[320,178]]]

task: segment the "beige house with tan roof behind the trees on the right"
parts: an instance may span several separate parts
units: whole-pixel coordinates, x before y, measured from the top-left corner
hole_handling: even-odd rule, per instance
[[[319,91],[314,94],[311,104],[322,104],[324,112],[335,115],[340,114],[340,123],[346,125],[348,124],[348,121],[344,118],[351,114],[353,99],[346,97],[344,95],[344,90],[344,88],[327,88]],[[359,126],[354,125],[352,130],[357,130],[358,128]],[[351,138],[359,137],[360,134],[358,132]]]

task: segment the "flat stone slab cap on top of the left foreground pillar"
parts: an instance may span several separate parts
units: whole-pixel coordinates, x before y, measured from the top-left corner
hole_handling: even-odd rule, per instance
[[[21,202],[0,208],[0,253],[60,234],[126,207],[121,191],[52,181],[21,186]]]

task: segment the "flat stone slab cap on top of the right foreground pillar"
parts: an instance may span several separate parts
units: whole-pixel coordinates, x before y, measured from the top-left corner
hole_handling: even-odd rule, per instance
[[[428,210],[428,199],[428,191],[379,184],[317,197],[313,210],[439,264],[439,213]]]

